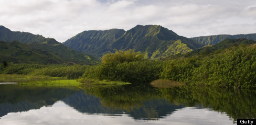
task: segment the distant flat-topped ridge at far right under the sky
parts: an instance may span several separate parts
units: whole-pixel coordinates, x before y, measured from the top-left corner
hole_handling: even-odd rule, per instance
[[[190,38],[195,42],[200,42],[204,45],[207,44],[217,44],[225,39],[240,39],[246,38],[251,40],[256,40],[256,33],[248,34],[248,35],[214,35],[214,36],[206,36],[206,37],[194,37]]]

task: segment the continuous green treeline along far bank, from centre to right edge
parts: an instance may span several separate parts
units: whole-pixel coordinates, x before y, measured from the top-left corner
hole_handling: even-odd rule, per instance
[[[102,64],[88,67],[80,79],[108,79],[130,83],[170,79],[198,86],[256,87],[256,47],[252,44],[240,44],[211,52],[214,54],[201,52],[200,56],[180,56],[167,61],[144,60],[141,53],[131,50],[123,53],[116,51],[103,56],[111,58],[104,59],[108,61]],[[113,58],[114,56],[119,58]],[[131,61],[133,56],[141,58]]]

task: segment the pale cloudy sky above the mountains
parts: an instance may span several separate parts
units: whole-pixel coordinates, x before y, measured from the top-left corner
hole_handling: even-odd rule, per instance
[[[84,30],[161,25],[180,36],[256,33],[255,0],[0,0],[0,25],[59,42]]]

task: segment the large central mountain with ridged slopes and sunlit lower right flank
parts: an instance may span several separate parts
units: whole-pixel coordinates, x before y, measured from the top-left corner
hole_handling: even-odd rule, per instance
[[[137,25],[127,31],[83,31],[63,44],[98,58],[109,51],[113,52],[114,49],[134,49],[147,54],[148,58],[155,59],[176,53],[184,54],[202,47],[201,43],[178,36],[172,30],[157,25]]]

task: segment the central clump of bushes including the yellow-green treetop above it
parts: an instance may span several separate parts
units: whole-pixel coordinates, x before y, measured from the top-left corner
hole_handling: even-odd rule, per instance
[[[134,50],[106,54],[102,61],[88,67],[82,78],[145,83],[158,78],[162,69],[160,61],[144,60],[144,54]]]

